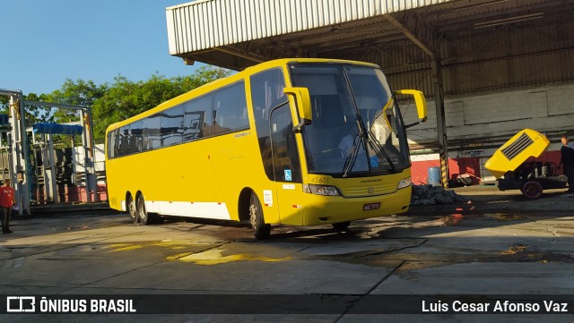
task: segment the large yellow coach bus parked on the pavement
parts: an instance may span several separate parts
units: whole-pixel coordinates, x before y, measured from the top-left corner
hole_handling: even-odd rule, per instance
[[[106,132],[109,206],[158,217],[328,225],[401,214],[411,198],[405,125],[375,64],[280,59],[154,107]]]

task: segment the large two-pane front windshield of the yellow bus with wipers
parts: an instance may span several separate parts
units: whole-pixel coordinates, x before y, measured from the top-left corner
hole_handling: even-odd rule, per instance
[[[393,174],[410,166],[400,110],[376,68],[291,64],[295,87],[309,89],[313,122],[302,130],[309,173]]]

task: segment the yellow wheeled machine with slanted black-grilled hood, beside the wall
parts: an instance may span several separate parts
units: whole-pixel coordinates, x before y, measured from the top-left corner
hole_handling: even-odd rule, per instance
[[[497,149],[484,167],[496,176],[500,191],[519,189],[526,198],[538,199],[544,189],[566,186],[565,176],[557,176],[552,163],[526,163],[530,157],[539,157],[549,145],[550,140],[542,133],[525,129]]]

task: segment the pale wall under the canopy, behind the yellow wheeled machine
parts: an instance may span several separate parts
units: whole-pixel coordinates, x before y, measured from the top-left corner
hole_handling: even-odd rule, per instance
[[[416,121],[414,107],[402,106],[405,123]],[[409,140],[437,140],[434,102],[429,119],[409,129]],[[530,128],[537,132],[574,131],[574,85],[509,91],[445,100],[448,140],[488,139]]]

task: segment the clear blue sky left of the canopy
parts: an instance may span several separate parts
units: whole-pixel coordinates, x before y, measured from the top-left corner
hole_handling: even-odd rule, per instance
[[[66,79],[189,75],[171,56],[165,8],[189,0],[0,0],[0,89],[50,93]]]

